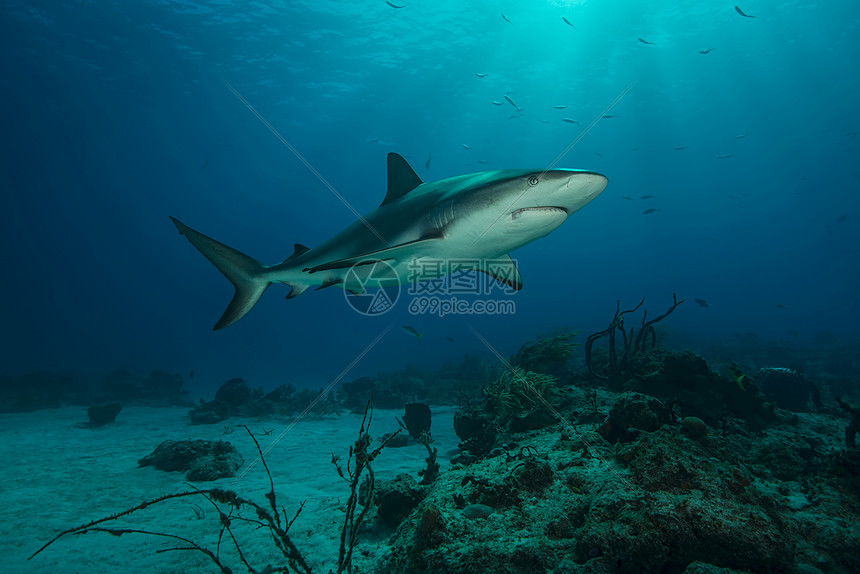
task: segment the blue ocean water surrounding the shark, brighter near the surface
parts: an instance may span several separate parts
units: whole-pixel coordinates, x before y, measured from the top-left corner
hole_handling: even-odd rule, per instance
[[[394,4],[4,0],[0,370],[319,386],[673,292],[691,346],[856,338],[857,5]],[[280,262],[355,220],[329,185],[378,206],[389,152],[425,181],[555,164],[609,185],[513,253],[513,315],[365,317],[337,288],[273,287],[213,333],[232,287],[168,216]]]

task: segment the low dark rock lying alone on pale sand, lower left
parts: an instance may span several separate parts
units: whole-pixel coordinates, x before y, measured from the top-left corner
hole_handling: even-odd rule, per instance
[[[137,461],[140,466],[186,472],[185,478],[192,481],[229,478],[243,462],[236,447],[220,440],[166,440]]]

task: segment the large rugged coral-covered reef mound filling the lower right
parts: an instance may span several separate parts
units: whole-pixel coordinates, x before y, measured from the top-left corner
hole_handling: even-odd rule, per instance
[[[840,506],[846,494],[832,488],[826,456],[801,451],[806,462],[783,472],[769,454],[798,434],[832,448],[824,419],[803,420],[791,433],[694,439],[653,416],[653,398],[627,397],[618,400],[639,405],[627,409],[631,420],[649,429],[628,442],[610,446],[595,431],[559,425],[517,435],[519,453],[443,472],[398,519],[392,552],[374,571],[860,568],[850,550],[860,544],[857,509]]]

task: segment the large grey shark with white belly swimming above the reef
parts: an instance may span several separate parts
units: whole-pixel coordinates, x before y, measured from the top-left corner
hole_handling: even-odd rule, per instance
[[[289,287],[287,299],[311,287],[338,286],[361,295],[370,287],[449,273],[449,266],[434,262],[476,261],[476,271],[520,290],[522,277],[510,253],[548,235],[608,183],[606,176],[581,169],[504,169],[424,182],[396,153],[388,154],[387,176],[378,208],[313,249],[296,243],[292,255],[274,265],[171,217],[235,289],[214,329],[244,317],[272,284]]]

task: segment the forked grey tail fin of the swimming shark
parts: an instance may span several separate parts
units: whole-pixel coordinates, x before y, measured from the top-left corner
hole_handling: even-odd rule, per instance
[[[188,238],[191,245],[197,248],[206,259],[212,262],[218,270],[224,274],[233,287],[236,294],[227,305],[227,310],[215,323],[214,329],[228,327],[245,316],[251,310],[266,287],[270,285],[267,279],[261,276],[265,266],[252,257],[236,251],[223,243],[215,241],[198,231],[194,231],[178,219],[170,218],[179,233]]]

